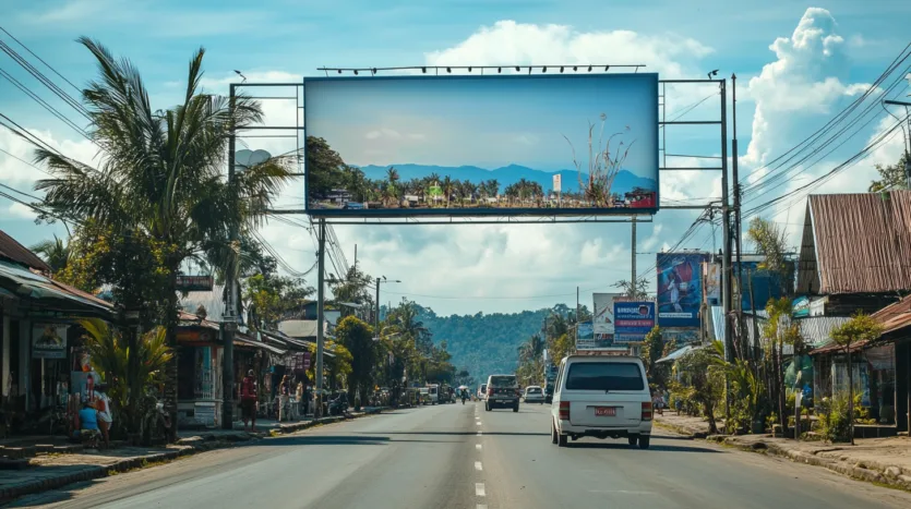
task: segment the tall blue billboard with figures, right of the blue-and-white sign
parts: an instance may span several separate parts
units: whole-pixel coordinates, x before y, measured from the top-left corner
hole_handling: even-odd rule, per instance
[[[658,325],[698,327],[705,253],[659,253]]]

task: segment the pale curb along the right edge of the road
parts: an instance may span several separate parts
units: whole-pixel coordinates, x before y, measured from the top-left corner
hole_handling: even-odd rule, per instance
[[[871,464],[870,462],[858,462],[850,464],[844,461],[830,460],[810,455],[804,451],[789,449],[778,444],[756,441],[752,445],[742,444],[734,437],[716,435],[709,437],[709,441],[722,444],[746,452],[759,452],[775,455],[779,458],[790,460],[794,463],[804,463],[814,466],[822,466],[831,472],[847,475],[868,483],[879,483],[900,489],[911,490],[911,475],[904,469],[896,465]]]

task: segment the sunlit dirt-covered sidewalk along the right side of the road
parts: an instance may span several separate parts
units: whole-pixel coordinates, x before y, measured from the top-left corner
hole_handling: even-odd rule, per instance
[[[702,417],[678,416],[667,411],[664,415],[656,416],[655,424],[693,438],[708,438],[741,450],[771,453],[850,477],[911,490],[911,438],[908,437],[859,438],[851,446],[771,435],[707,436],[708,423]]]

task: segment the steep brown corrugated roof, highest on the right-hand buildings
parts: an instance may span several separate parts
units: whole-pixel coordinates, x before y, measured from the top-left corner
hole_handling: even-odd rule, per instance
[[[807,199],[799,293],[911,289],[911,191]]]

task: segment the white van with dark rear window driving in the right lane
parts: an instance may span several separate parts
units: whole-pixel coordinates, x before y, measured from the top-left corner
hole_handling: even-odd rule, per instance
[[[551,443],[567,437],[621,438],[648,448],[651,395],[639,357],[570,355],[560,363],[551,407]]]

